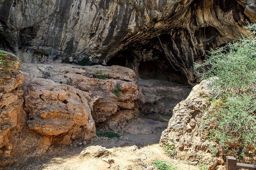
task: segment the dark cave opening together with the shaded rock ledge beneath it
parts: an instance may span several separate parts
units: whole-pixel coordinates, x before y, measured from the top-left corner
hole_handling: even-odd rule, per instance
[[[164,62],[145,61],[139,65],[140,114],[168,122],[173,108],[191,92],[187,77]]]

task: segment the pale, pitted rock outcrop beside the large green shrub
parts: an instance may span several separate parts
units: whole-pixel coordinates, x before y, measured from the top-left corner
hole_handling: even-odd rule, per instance
[[[201,129],[201,120],[204,115],[204,107],[207,103],[201,94],[209,95],[208,81],[202,81],[196,85],[188,98],[181,101],[173,109],[173,116],[167,129],[162,132],[160,143],[162,145],[174,145],[176,158],[187,160],[190,164],[205,164],[209,169],[224,163],[223,153],[219,157],[209,152],[209,147],[216,143],[206,140],[207,134]]]

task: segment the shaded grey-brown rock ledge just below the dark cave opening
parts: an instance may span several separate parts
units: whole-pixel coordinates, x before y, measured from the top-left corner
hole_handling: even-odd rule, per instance
[[[172,109],[186,99],[191,86],[180,85],[170,81],[157,79],[139,79],[140,112],[148,114],[172,115]],[[171,117],[171,116],[170,116]]]

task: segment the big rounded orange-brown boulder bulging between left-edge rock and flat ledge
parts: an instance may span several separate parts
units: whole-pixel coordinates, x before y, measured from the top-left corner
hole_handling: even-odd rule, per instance
[[[53,140],[59,144],[96,137],[91,109],[83,91],[26,73],[23,75],[29,129],[43,136],[58,136]]]

